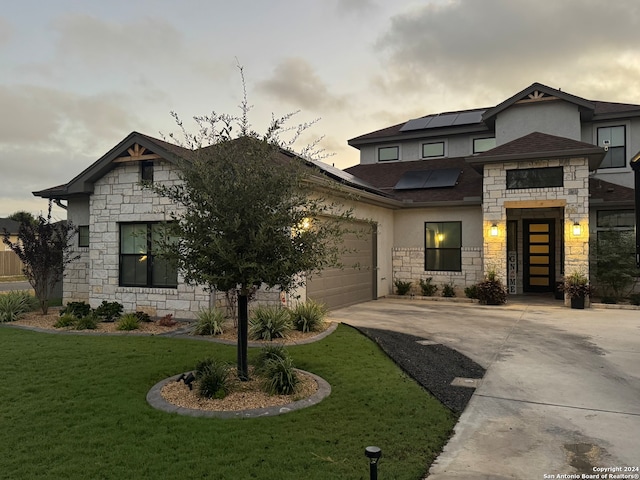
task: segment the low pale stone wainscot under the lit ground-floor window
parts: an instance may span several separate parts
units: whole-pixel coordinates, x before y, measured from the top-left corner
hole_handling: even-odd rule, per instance
[[[431,283],[438,285],[442,292],[443,283],[453,283],[456,295],[464,296],[464,288],[482,280],[482,249],[480,247],[462,247],[462,271],[440,272],[424,269],[424,248],[394,248],[393,280],[411,281],[411,293],[420,295],[420,279],[432,277]],[[395,290],[394,290],[395,293]],[[438,293],[438,294],[439,294]]]

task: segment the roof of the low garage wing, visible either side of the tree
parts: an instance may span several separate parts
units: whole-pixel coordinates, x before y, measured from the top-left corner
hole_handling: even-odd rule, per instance
[[[68,199],[70,197],[84,196],[93,193],[93,186],[95,182],[106,175],[109,171],[116,168],[118,163],[115,163],[114,160],[123,155],[128,155],[129,153],[127,152],[134,144],[138,144],[146,148],[148,152],[159,155],[169,162],[189,160],[196,152],[196,150],[190,150],[139,132],[131,132],[120,143],[83,170],[79,175],[71,179],[68,183],[33,192],[33,195],[51,199]],[[204,147],[200,151],[206,148],[210,147]],[[290,161],[291,158],[301,158],[295,153],[283,149],[280,150],[280,153],[282,154],[281,158],[284,161]],[[353,177],[342,170],[327,165],[326,163],[304,158],[301,158],[301,160],[306,162],[307,165],[314,167],[316,171],[319,171],[322,175],[329,177],[334,181],[359,190],[374,193],[376,195],[386,196],[373,185]]]

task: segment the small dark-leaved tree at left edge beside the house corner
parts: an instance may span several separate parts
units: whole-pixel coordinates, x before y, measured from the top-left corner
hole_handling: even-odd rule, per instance
[[[4,230],[2,241],[24,264],[23,272],[40,301],[44,315],[49,308],[51,290],[62,280],[65,267],[79,258],[69,251],[69,240],[75,231],[70,222],[51,222],[51,201],[46,218],[38,215],[35,223],[20,223],[15,243],[9,240],[9,232]]]

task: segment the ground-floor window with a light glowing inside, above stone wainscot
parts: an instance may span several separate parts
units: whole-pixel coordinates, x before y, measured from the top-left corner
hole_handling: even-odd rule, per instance
[[[425,270],[462,270],[462,223],[425,222]]]

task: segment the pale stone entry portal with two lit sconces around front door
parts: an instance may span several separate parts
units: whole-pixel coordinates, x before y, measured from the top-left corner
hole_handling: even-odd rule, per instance
[[[514,168],[563,167],[563,187],[507,190],[506,171]],[[564,271],[589,275],[589,166],[586,158],[550,159],[529,162],[495,163],[484,166],[483,231],[485,269],[493,268],[507,278],[505,202],[557,201],[564,204]],[[544,204],[541,204],[543,207]],[[546,205],[548,206],[548,205]],[[517,207],[516,207],[517,208]],[[526,207],[533,208],[533,207]],[[572,235],[574,222],[582,226],[582,235]],[[491,225],[499,235],[491,237]]]

